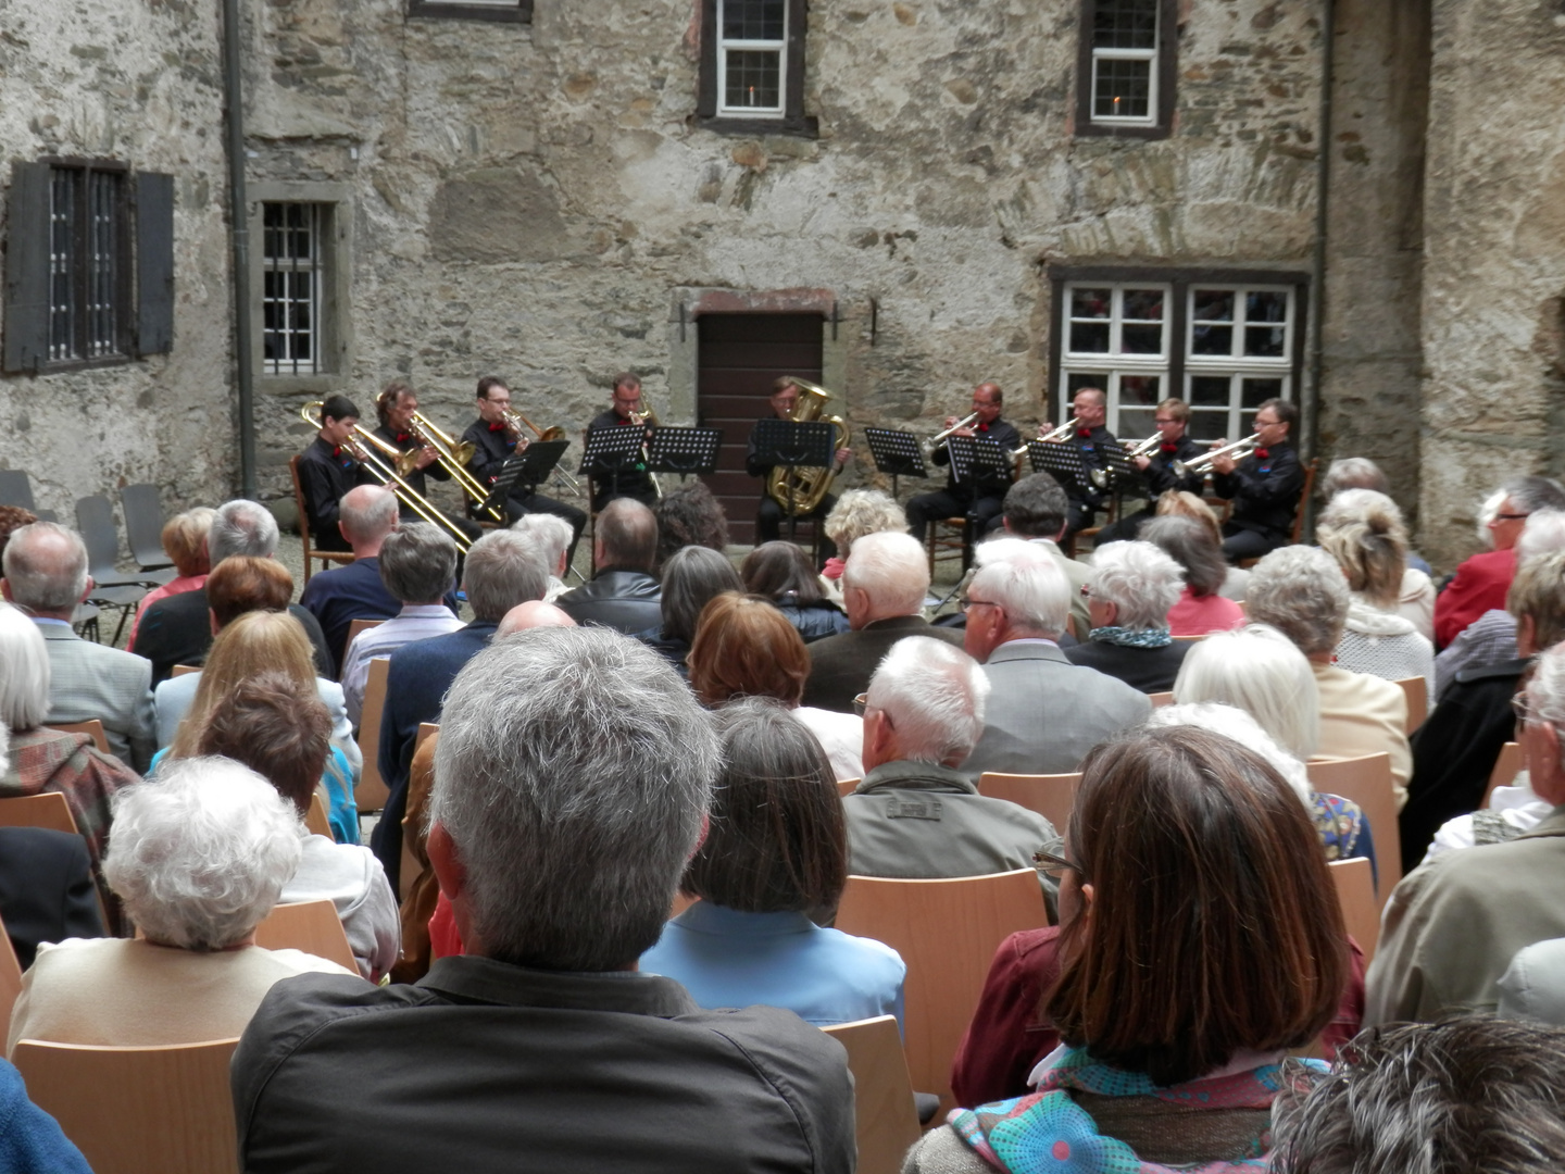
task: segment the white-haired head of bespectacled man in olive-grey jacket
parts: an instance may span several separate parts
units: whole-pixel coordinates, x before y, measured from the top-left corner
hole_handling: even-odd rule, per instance
[[[867,700],[890,715],[903,758],[961,765],[983,734],[989,678],[961,648],[906,636],[881,659]]]

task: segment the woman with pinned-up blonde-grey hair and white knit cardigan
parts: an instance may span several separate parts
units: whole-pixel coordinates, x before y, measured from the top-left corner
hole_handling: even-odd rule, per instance
[[[1347,579],[1337,664],[1387,681],[1423,676],[1434,690],[1435,585],[1407,565],[1407,528],[1396,502],[1373,490],[1343,490],[1321,513],[1316,538]]]

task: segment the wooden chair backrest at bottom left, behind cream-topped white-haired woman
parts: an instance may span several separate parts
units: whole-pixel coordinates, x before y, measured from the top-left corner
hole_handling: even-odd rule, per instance
[[[97,1047],[23,1039],[11,1060],[28,1099],[59,1122],[95,1174],[239,1169],[228,1063],[238,1039]]]

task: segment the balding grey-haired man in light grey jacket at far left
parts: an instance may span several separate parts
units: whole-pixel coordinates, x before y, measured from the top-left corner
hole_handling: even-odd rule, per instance
[[[108,748],[138,772],[152,761],[152,670],[147,662],[97,640],[83,640],[70,617],[91,592],[88,548],[75,531],[34,521],[11,534],[0,592],[27,609],[49,648],[45,722],[103,723]]]

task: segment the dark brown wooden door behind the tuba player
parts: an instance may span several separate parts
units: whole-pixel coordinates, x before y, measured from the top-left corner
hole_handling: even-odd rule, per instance
[[[820,315],[703,315],[696,416],[723,429],[717,473],[703,477],[728,510],[729,540],[756,540],[756,507],[765,481],[745,473],[750,429],[772,415],[778,376],[820,382]],[[840,413],[840,409],[837,409]]]

